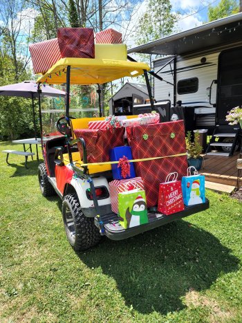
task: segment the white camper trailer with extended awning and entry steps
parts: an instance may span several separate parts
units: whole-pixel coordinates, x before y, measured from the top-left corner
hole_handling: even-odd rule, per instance
[[[239,125],[225,120],[242,104],[241,35],[239,13],[128,51],[152,55],[153,98],[171,100],[186,130],[209,129],[208,154],[231,156],[241,137]]]

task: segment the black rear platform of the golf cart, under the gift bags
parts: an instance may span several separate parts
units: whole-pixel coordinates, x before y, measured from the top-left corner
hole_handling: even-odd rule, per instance
[[[112,240],[122,240],[129,237],[133,237],[136,234],[158,228],[160,225],[167,224],[169,222],[177,221],[185,216],[189,216],[204,210],[207,210],[210,207],[210,202],[206,199],[205,203],[185,206],[185,210],[177,212],[171,215],[156,213],[148,213],[149,223],[138,225],[133,228],[124,229],[122,225],[118,223],[118,216],[115,213],[110,213],[102,216],[102,222],[104,223],[105,235]],[[97,218],[95,218],[95,225],[97,224]]]

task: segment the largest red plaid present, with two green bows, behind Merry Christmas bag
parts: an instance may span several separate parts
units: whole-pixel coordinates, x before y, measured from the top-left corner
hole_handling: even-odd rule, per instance
[[[133,159],[186,153],[183,120],[128,127],[127,138]],[[187,156],[138,162],[135,169],[144,181],[147,206],[151,207],[158,204],[159,185],[167,174],[178,172],[178,180],[186,174]]]

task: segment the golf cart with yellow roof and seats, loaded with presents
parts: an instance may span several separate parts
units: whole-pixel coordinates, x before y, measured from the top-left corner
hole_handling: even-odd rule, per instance
[[[156,207],[150,207],[148,223],[124,229],[119,223],[118,214],[111,210],[111,163],[91,163],[88,160],[86,140],[75,135],[76,129],[87,129],[90,121],[104,120],[104,117],[100,109],[99,118],[72,118],[69,109],[70,84],[99,86],[120,77],[144,74],[152,109],[148,72],[147,64],[127,60],[63,58],[37,80],[39,93],[45,83],[66,84],[65,116],[56,122],[59,137],[42,140],[44,163],[39,165],[39,185],[44,196],[51,196],[56,192],[62,199],[64,227],[67,239],[75,251],[95,246],[102,236],[113,240],[127,239],[209,207],[206,199],[205,203],[185,206],[185,210],[169,216],[158,212]],[[97,93],[100,99],[100,86]],[[42,134],[40,103],[39,111]]]

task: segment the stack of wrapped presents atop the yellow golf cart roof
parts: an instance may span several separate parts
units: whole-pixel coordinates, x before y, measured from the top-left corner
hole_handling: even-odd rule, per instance
[[[59,28],[57,38],[32,44],[29,49],[35,74],[45,74],[65,57],[127,60],[122,34],[111,28],[95,36],[92,28]]]

